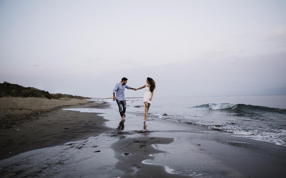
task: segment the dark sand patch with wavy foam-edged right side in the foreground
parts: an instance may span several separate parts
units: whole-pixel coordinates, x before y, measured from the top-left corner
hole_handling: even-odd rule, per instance
[[[170,144],[172,138],[136,137],[121,138],[111,145],[115,152],[115,158],[119,161],[114,166],[116,169],[124,171],[121,177],[178,177],[168,174],[164,166],[154,166],[143,164],[143,160],[153,159],[150,154],[164,153],[155,149],[152,144]],[[187,177],[180,175],[179,177]]]

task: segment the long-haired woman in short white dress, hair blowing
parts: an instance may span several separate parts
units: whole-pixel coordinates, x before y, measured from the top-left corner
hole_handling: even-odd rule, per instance
[[[134,89],[134,90],[139,90],[139,89],[142,89],[142,88],[146,87],[145,93],[144,93],[144,96],[143,96],[143,103],[145,105],[144,120],[148,119],[147,113],[148,113],[148,110],[150,108],[150,105],[152,104],[154,89],[156,88],[156,85],[155,85],[156,82],[152,78],[147,77],[146,83],[147,83],[147,85],[144,85],[144,86],[141,86],[141,87],[139,87],[137,89]]]

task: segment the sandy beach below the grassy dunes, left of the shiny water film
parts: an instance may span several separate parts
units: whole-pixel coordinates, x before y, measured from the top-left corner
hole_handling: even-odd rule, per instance
[[[85,107],[87,104],[90,108],[106,107],[78,99],[0,98],[0,159],[70,140],[85,139],[106,130],[101,125],[104,119],[96,114],[61,109],[68,106]]]

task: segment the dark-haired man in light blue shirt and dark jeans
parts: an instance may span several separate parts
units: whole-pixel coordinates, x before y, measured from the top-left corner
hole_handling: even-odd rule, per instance
[[[126,85],[127,80],[128,80],[127,78],[123,77],[121,79],[121,82],[116,84],[114,89],[113,89],[113,100],[116,100],[116,103],[118,104],[119,113],[120,113],[122,120],[124,119],[124,117],[126,117],[126,115],[125,115],[126,101],[125,101],[125,97],[124,97],[124,90],[125,90],[125,88],[131,89],[131,90],[134,89],[134,88],[131,88],[130,86]],[[116,97],[115,97],[115,92],[116,92]]]

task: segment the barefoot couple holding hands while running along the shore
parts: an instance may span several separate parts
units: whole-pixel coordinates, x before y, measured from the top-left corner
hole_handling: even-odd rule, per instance
[[[124,89],[125,88],[132,89],[132,90],[139,90],[142,88],[146,88],[144,96],[143,96],[143,103],[145,105],[144,120],[148,119],[147,113],[148,113],[148,110],[150,108],[150,105],[152,104],[152,98],[153,98],[154,89],[156,88],[156,85],[155,85],[156,82],[152,78],[147,77],[147,80],[146,80],[147,84],[145,84],[139,88],[132,88],[132,87],[126,85],[127,80],[128,80],[127,78],[123,77],[121,79],[121,82],[116,84],[114,89],[113,89],[113,100],[116,100],[116,103],[118,104],[121,119],[123,120],[124,117],[126,117],[126,115],[125,115],[126,101],[125,101],[125,97],[124,97]],[[115,93],[116,93],[116,97],[115,97]]]

